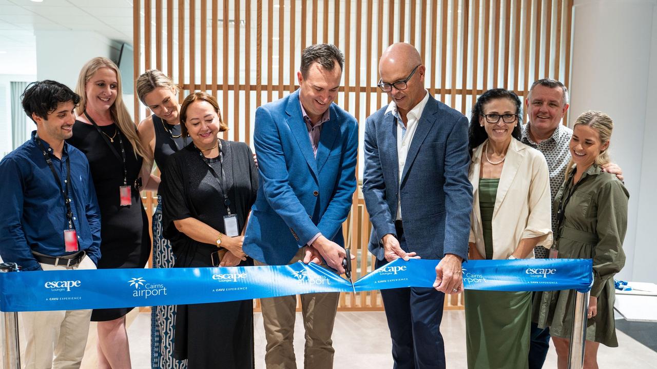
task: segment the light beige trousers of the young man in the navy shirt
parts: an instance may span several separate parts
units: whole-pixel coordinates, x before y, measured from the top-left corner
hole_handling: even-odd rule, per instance
[[[41,264],[44,271],[96,269],[85,256],[76,267]],[[75,274],[72,278],[75,278]],[[65,294],[65,292],[62,292]],[[30,311],[20,313],[26,340],[25,369],[79,368],[84,356],[91,310]],[[54,356],[54,358],[53,358]]]

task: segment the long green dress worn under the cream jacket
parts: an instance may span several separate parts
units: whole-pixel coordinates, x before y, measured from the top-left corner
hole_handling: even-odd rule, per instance
[[[486,259],[493,258],[493,209],[499,179],[479,180]],[[526,369],[529,366],[531,292],[465,290],[469,369]]]

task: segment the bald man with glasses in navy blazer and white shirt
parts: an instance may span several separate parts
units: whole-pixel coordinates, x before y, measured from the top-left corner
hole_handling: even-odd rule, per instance
[[[468,120],[424,89],[412,45],[384,51],[378,86],[391,98],[367,118],[363,196],[376,267],[394,259],[442,259],[434,288],[382,290],[394,368],[445,368],[440,334],[445,293],[463,290],[472,186]]]

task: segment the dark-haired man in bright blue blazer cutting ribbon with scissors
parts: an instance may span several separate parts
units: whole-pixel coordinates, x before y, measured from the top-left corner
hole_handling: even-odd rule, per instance
[[[356,189],[356,119],[333,103],[344,56],[334,45],[302,52],[300,89],[256,110],[254,144],[260,188],[243,249],[256,265],[321,263],[339,274],[342,223]],[[332,368],[338,293],[301,296],[306,368]],[[296,368],[292,336],[296,296],[261,299],[267,368]]]

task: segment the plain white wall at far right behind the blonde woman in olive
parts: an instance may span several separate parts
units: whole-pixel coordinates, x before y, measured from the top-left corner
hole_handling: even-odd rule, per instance
[[[570,123],[585,110],[614,119],[610,146],[629,190],[625,268],[618,278],[657,282],[657,248],[650,232],[654,194],[652,118],[657,110],[655,0],[576,0],[572,43]],[[652,68],[650,68],[652,66]],[[652,83],[649,82],[652,81]]]

